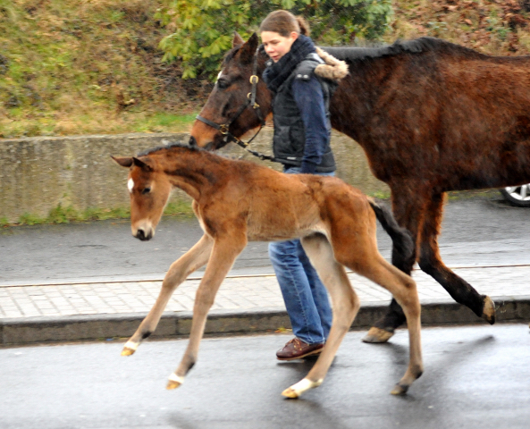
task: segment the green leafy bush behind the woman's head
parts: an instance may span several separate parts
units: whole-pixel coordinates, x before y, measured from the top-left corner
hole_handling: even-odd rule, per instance
[[[156,18],[174,32],[160,42],[164,60],[181,59],[183,79],[214,78],[233,31],[248,38],[268,13],[286,9],[304,16],[321,45],[380,38],[391,21],[391,0],[168,0]]]

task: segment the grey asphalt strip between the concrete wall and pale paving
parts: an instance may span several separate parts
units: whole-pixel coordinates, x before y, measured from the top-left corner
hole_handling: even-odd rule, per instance
[[[449,266],[528,264],[529,208],[501,197],[450,201],[440,248]],[[161,279],[202,235],[195,219],[164,218],[156,237],[139,241],[129,221],[23,226],[0,230],[0,285]],[[391,240],[378,230],[380,251]],[[267,244],[249,243],[232,273],[272,273]],[[198,273],[200,275],[200,273]]]

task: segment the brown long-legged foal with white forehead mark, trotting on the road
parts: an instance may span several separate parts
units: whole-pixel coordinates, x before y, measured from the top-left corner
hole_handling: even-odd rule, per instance
[[[282,394],[298,398],[324,381],[342,338],[358,313],[358,296],[344,266],[389,290],[407,315],[409,364],[392,393],[405,393],[422,374],[416,283],[386,262],[377,250],[376,217],[403,257],[414,257],[413,241],[390,211],[334,177],[283,174],[193,147],[172,145],[137,157],[113,158],[123,167],[130,167],[133,236],[139,240],[153,238],[173,188],[183,189],[193,198],[193,210],[205,231],[198,243],[171,265],[155,306],[122,351],[124,356],[136,351],[139,343],[155,331],[172,292],[190,273],[207,263],[193,307],[189,345],[181,365],[169,377],[168,389],[179,387],[197,361],[208,310],[247,242],[294,238],[301,239],[307,257],[330,293],[333,319],[315,366]]]

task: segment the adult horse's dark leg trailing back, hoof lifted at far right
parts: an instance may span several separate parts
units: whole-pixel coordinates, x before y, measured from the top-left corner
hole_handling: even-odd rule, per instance
[[[440,234],[443,211],[442,194],[435,195],[427,207],[420,236],[419,266],[436,282],[442,284],[455,301],[469,307],[475,315],[483,317],[490,324],[495,323],[495,304],[487,295],[480,295],[468,282],[458,277],[440,257],[437,237]]]

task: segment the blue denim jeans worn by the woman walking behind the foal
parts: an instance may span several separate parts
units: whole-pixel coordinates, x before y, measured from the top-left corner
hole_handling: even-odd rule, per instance
[[[290,167],[285,172],[297,174],[299,167]],[[333,172],[318,174],[334,175]],[[280,283],[292,332],[307,344],[325,342],[332,326],[332,307],[300,240],[270,243],[269,257]]]

